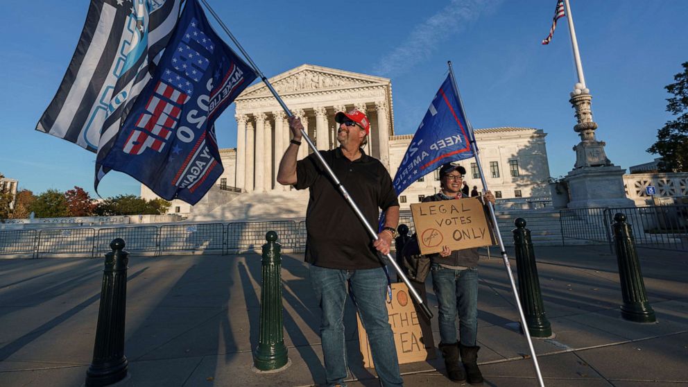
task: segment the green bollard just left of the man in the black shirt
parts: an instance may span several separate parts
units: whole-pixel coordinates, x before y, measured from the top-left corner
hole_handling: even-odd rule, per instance
[[[289,365],[284,346],[282,317],[282,257],[279,255],[277,233],[265,235],[263,245],[260,295],[260,336],[253,352],[253,365],[259,371],[277,371]]]

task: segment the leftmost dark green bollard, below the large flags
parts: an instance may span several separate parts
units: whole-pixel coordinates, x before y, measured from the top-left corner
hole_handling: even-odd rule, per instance
[[[124,322],[127,304],[129,253],[121,238],[110,243],[105,254],[101,305],[98,309],[93,361],[86,371],[86,387],[107,386],[127,376],[129,363],[124,356]]]

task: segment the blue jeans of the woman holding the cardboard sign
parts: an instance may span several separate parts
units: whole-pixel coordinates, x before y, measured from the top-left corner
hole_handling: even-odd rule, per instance
[[[453,270],[432,264],[432,286],[440,304],[440,339],[456,343],[458,311],[461,345],[473,347],[478,336],[478,268]]]

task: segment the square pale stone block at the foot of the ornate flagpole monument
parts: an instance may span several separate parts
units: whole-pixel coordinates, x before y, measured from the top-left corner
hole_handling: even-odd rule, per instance
[[[566,175],[571,201],[569,208],[635,207],[626,198],[620,166],[585,166]]]

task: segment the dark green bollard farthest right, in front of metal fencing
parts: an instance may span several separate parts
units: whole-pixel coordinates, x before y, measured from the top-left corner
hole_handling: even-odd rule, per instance
[[[633,322],[655,322],[655,311],[647,300],[645,282],[640,273],[640,262],[635,251],[633,232],[626,223],[626,215],[621,212],[614,215],[614,243],[619,264],[621,281],[621,317]]]

